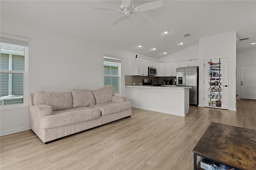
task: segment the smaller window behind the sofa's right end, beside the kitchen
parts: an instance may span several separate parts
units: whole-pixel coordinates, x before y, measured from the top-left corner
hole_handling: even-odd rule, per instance
[[[104,86],[111,85],[115,94],[120,93],[121,60],[104,57]]]

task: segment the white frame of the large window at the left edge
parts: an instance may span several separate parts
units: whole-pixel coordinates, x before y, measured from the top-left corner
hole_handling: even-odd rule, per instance
[[[23,74],[23,103],[14,105],[1,105],[0,110],[28,107],[28,42],[30,39],[1,33],[0,42],[24,46],[24,71],[0,70],[0,73]]]

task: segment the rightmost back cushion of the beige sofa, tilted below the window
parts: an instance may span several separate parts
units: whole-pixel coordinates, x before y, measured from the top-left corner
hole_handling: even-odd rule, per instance
[[[110,102],[112,101],[112,97],[115,95],[114,89],[111,85],[94,90],[92,93],[94,95],[96,104]]]

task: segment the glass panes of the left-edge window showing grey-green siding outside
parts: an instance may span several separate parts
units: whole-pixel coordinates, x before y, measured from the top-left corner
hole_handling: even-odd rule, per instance
[[[24,46],[1,42],[0,67],[0,105],[23,103]],[[4,73],[4,71],[22,73]]]

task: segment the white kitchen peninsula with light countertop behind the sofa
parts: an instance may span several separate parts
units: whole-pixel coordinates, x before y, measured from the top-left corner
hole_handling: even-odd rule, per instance
[[[189,109],[189,89],[176,86],[125,86],[132,107],[186,116]]]

